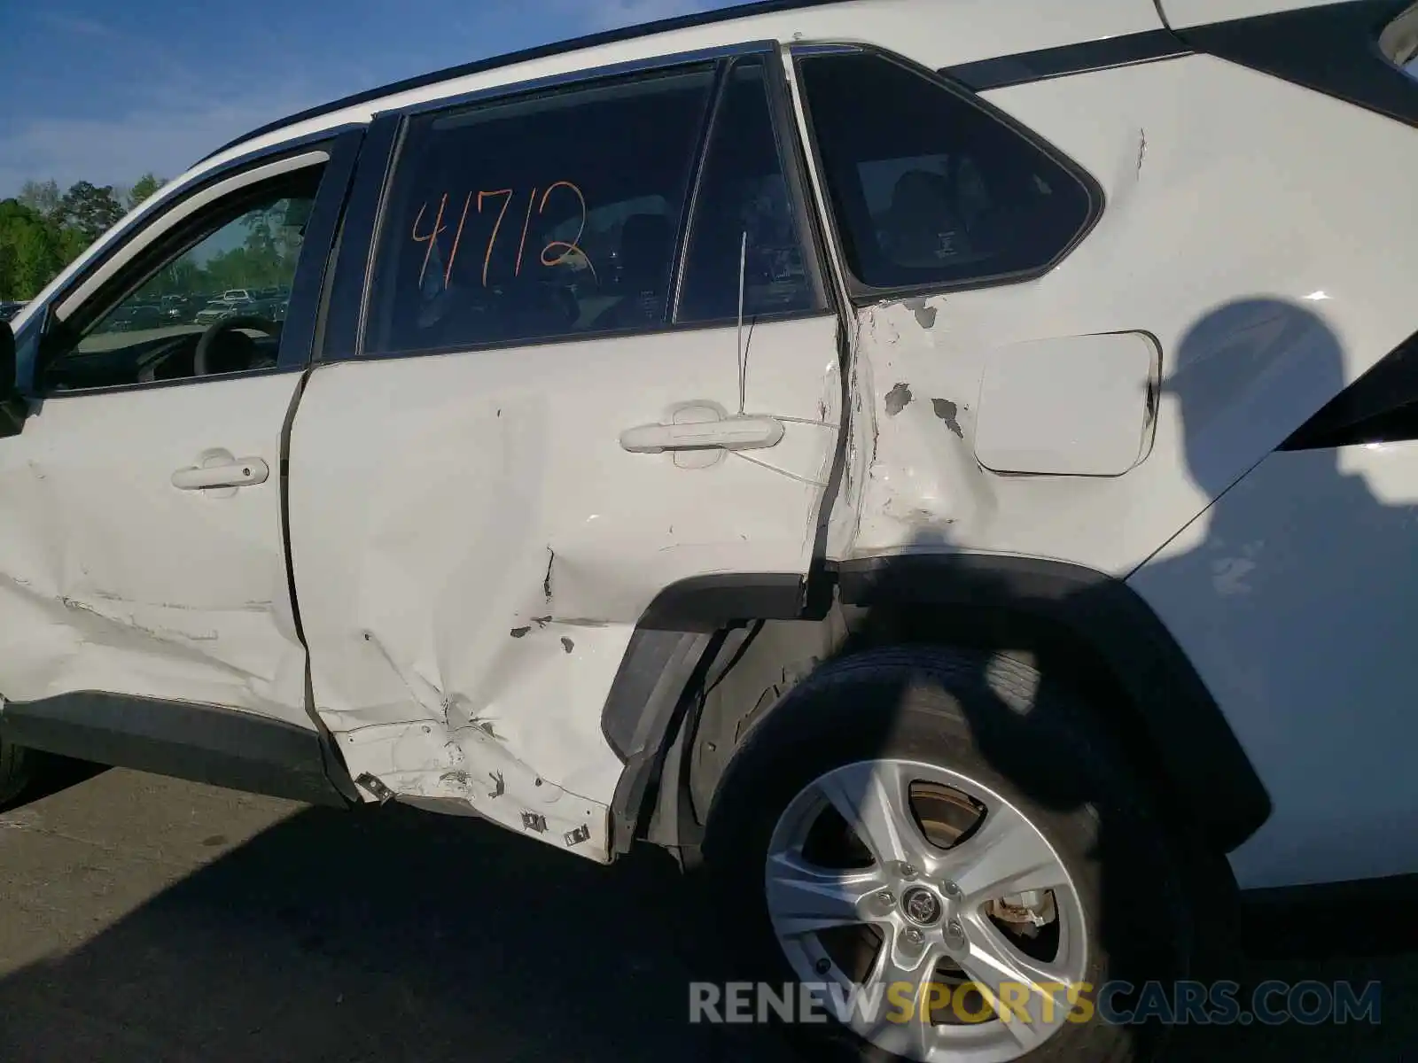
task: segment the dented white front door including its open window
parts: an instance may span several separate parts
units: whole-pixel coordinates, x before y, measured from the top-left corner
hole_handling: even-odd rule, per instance
[[[33,397],[0,439],[0,693],[35,743],[50,724],[91,734],[95,758],[101,731],[184,741],[142,704],[180,727],[218,707],[313,730],[281,514],[308,344],[164,310],[233,283],[288,289],[328,160],[286,152],[170,194],[60,291],[43,336],[21,333]]]

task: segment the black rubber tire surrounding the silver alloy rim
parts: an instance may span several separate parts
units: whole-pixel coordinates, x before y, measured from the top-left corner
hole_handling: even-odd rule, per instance
[[[1010,714],[1004,702],[1025,704],[1035,689],[1037,676],[1018,662],[898,649],[837,662],[790,692],[736,751],[709,816],[705,880],[718,913],[715,955],[723,979],[767,982],[776,989],[797,981],[764,900],[771,833],[787,805],[814,780],[835,767],[873,758],[917,760],[959,771],[1041,829],[1082,901],[1089,935],[1085,981],[1095,989],[1110,978],[1140,984],[1144,975],[1180,975],[1190,952],[1190,916],[1163,835],[1147,814],[1143,787],[1076,704],[1048,694],[1049,704],[1029,704],[1022,724],[1018,717],[1004,719]],[[986,753],[1001,743],[1012,751],[1007,772]],[[1049,799],[1041,801],[1041,794]],[[1129,859],[1119,859],[1119,853]],[[1167,894],[1164,920],[1157,918],[1159,884]],[[1112,903],[1105,911],[1105,897],[1126,899],[1139,890],[1146,893],[1137,903]],[[1119,950],[1117,943],[1126,945]],[[1119,951],[1129,955],[1117,957]],[[835,1020],[795,1023],[788,1032],[818,1059],[893,1059]],[[1150,1040],[1154,1037],[1139,1037],[1136,1030],[1095,1016],[1086,1023],[1065,1023],[1028,1059],[1129,1060],[1144,1053]]]

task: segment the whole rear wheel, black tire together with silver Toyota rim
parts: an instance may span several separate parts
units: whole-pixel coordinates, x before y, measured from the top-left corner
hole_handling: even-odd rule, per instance
[[[879,785],[883,788],[878,791]],[[828,792],[835,798],[827,799]],[[841,659],[791,690],[749,731],[716,789],[703,846],[708,900],[716,907],[715,934],[722,940],[716,971],[725,981],[767,984],[776,995],[787,989],[791,999],[801,1001],[804,991],[813,992],[804,982],[865,981],[872,962],[881,962],[881,951],[871,958],[869,943],[845,955],[841,945],[834,951],[827,941],[835,930],[801,938],[790,934],[788,947],[780,943],[774,914],[783,928],[791,930],[794,918],[820,914],[822,904],[817,886],[801,886],[804,872],[787,863],[788,857],[771,869],[774,911],[769,901],[770,852],[784,852],[793,838],[807,839],[801,849],[787,849],[805,860],[808,849],[818,846],[813,832],[832,819],[844,802],[856,806],[869,792],[912,794],[908,805],[913,818],[898,821],[906,823],[898,833],[906,839],[902,850],[919,853],[922,859],[916,862],[925,866],[910,874],[909,862],[902,867],[885,859],[883,853],[895,845],[889,829],[878,832],[886,840],[866,846],[871,852],[858,852],[855,860],[831,866],[847,866],[851,869],[847,874],[859,876],[851,880],[854,911],[866,911],[883,940],[892,935],[899,943],[900,951],[892,952],[905,958],[895,968],[898,974],[912,961],[913,948],[954,947],[932,981],[944,977],[949,985],[956,979],[953,988],[937,991],[936,998],[942,1015],[957,1012],[951,1019],[956,1028],[940,1033],[919,1020],[883,1023],[881,1011],[873,1012],[875,1033],[862,1023],[851,1029],[834,1018],[804,1022],[801,1011],[795,1019],[783,1022],[777,1006],[754,1002],[760,1018],[801,1039],[811,1050],[808,1057],[815,1060],[1130,1063],[1151,1054],[1159,1042],[1157,1028],[1105,1022],[1098,1011],[1105,1005],[1096,999],[1096,991],[1105,982],[1126,979],[1140,986],[1149,979],[1170,984],[1185,975],[1195,950],[1197,921],[1178,870],[1181,860],[1149,811],[1147,788],[1127,768],[1106,729],[1068,690],[1052,689],[1028,666],[997,655],[905,648]],[[960,794],[971,801],[961,801]],[[929,815],[920,811],[926,799],[934,809]],[[973,825],[942,826],[957,812],[967,819],[977,815],[978,808],[971,802],[984,808]],[[813,809],[820,806],[831,811],[813,821],[818,815]],[[844,826],[845,821],[844,816]],[[805,826],[808,822],[813,825]],[[912,822],[915,835],[909,835]],[[942,835],[934,839],[937,845],[927,842],[925,849],[919,848],[923,831]],[[960,848],[944,852],[940,846],[950,845],[951,836]],[[995,842],[1000,843],[994,849],[983,849]],[[917,848],[910,849],[912,845]],[[987,920],[978,907],[978,884],[988,880],[987,870],[1005,865],[976,859],[981,852],[1028,853],[1041,866],[1052,855],[1055,870],[1041,870],[1034,877],[1052,882],[1059,877],[1056,869],[1062,869],[1062,884],[1048,894],[1010,894],[1022,897],[1025,906],[1003,909],[1008,923]],[[814,855],[810,863],[820,860]],[[959,876],[964,887],[950,880]],[[878,892],[882,882],[889,889]],[[1020,877],[1010,882],[1028,884]],[[888,892],[891,897],[883,899]],[[862,907],[868,904],[876,909]],[[837,909],[831,914],[837,916]],[[922,921],[912,923],[915,916]],[[1022,923],[1028,918],[1045,926],[1031,931]],[[1081,1005],[1072,1018],[1064,1019],[1071,1008],[1059,995],[1052,1030],[1042,998],[1028,998],[1031,1023],[1020,1025],[1015,1019],[1007,1026],[995,1018],[988,1001],[970,995],[960,982],[980,981],[981,969],[988,974],[978,950],[993,948],[995,955],[1007,955],[1000,941],[1011,944],[1015,938],[1004,927],[1011,933],[1021,927],[1025,934],[1034,933],[1035,938],[1020,940],[1049,964],[1011,969],[1068,971],[1068,982],[1079,984],[1081,989],[1089,986],[1082,998],[1093,1006]],[[856,937],[864,933],[851,931]],[[916,938],[908,940],[910,935]],[[916,945],[922,935],[925,944]],[[1025,955],[1015,944],[1011,948]],[[793,951],[795,965],[787,950]],[[950,975],[947,968],[956,957],[961,960],[953,968],[956,975]],[[919,984],[922,969],[930,962],[922,961],[906,984]],[[898,994],[896,1003],[910,999],[900,989]],[[944,999],[951,1001],[949,1008]],[[1020,1001],[1018,991],[1014,999]],[[1110,1005],[1120,1009],[1133,999],[1119,992],[1110,995]],[[988,1018],[973,1022],[981,1018],[981,1006],[990,1012]],[[888,1012],[896,1020],[912,1018],[899,1006]],[[971,1036],[978,1040],[967,1043]]]

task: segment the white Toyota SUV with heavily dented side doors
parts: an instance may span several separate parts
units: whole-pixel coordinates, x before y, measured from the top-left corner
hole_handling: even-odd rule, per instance
[[[1012,991],[1418,872],[1404,7],[774,0],[223,147],[14,322],[0,789],[648,839],[910,986],[822,1052],[1126,1057]],[[86,346],[292,204],[271,336]]]

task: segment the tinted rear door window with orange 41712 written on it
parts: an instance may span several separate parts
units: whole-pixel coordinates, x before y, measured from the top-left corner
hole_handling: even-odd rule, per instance
[[[411,120],[364,353],[662,327],[712,65]]]

